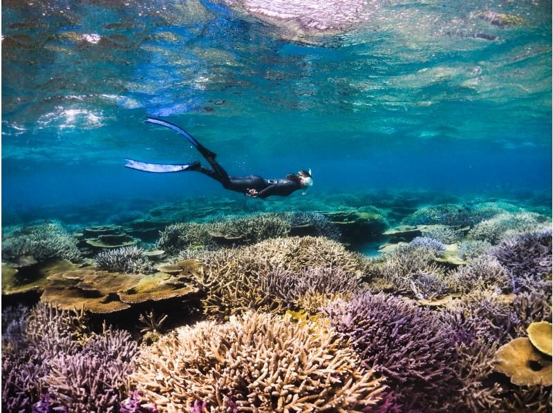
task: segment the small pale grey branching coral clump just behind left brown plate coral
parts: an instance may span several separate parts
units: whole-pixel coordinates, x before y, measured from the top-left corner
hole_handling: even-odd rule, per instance
[[[151,261],[138,247],[121,247],[99,253],[94,259],[96,267],[109,272],[151,273],[154,271]]]

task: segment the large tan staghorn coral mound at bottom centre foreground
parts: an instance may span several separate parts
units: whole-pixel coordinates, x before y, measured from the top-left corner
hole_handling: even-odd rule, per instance
[[[247,312],[180,327],[145,349],[131,380],[160,412],[325,412],[374,405],[381,379],[334,332]],[[204,404],[205,403],[205,404]]]

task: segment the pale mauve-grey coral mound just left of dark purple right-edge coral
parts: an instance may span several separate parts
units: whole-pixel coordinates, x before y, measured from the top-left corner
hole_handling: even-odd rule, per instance
[[[511,291],[509,271],[494,256],[482,255],[461,265],[446,276],[451,291],[469,293],[474,289],[501,289]]]

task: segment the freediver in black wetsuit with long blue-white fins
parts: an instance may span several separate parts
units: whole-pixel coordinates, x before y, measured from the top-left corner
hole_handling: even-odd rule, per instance
[[[225,169],[215,160],[217,154],[209,151],[200,142],[191,137],[189,133],[179,128],[178,126],[165,122],[164,120],[147,117],[146,121],[150,124],[157,124],[173,129],[176,133],[187,138],[187,140],[198,149],[198,152],[212,166],[212,169],[204,168],[200,162],[195,161],[189,164],[147,164],[131,159],[125,159],[127,168],[137,169],[138,171],[153,172],[153,173],[170,173],[183,171],[196,171],[207,175],[214,180],[221,182],[223,188],[230,191],[241,192],[252,198],[267,198],[271,195],[287,196],[290,193],[299,189],[306,190],[313,184],[311,170],[299,171],[298,173],[290,173],[284,179],[268,180],[258,175],[250,175],[244,177],[232,177],[227,174]]]

